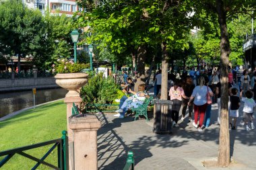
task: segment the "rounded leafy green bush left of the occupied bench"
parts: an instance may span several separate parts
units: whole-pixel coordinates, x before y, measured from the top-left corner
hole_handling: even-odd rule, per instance
[[[82,87],[80,95],[84,103],[112,103],[119,97],[119,87],[112,77],[104,78],[102,73],[91,77]]]

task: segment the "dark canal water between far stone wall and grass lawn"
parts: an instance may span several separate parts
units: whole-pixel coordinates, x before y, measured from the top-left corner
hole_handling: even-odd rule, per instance
[[[36,105],[64,98],[67,93],[65,89],[38,89],[36,90]],[[0,93],[0,118],[34,105],[33,93],[31,91],[18,91]]]

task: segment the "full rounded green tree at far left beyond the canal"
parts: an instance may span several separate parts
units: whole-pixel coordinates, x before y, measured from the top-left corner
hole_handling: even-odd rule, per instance
[[[0,44],[5,46],[2,52],[18,55],[20,58],[44,52],[46,40],[45,24],[40,11],[30,11],[22,1],[0,1]]]

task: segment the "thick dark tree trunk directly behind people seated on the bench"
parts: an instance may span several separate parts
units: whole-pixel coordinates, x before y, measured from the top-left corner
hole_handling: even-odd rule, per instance
[[[134,91],[137,91],[138,85],[145,84],[145,59],[146,59],[146,49],[144,46],[140,46],[137,50],[137,72]]]

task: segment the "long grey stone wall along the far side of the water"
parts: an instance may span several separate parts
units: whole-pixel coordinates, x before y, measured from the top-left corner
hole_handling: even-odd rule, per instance
[[[0,92],[3,91],[20,91],[37,89],[57,88],[54,77],[37,77],[22,79],[0,79]]]

